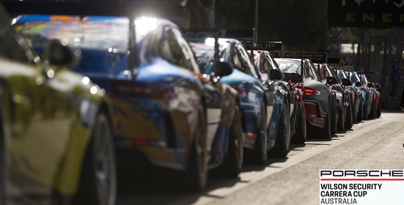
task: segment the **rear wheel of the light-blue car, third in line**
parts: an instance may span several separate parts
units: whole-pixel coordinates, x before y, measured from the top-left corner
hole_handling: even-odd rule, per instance
[[[266,111],[264,101],[261,104],[261,119],[259,120],[259,128],[257,131],[257,138],[255,139],[254,150],[252,150],[252,162],[257,165],[263,165],[268,159],[266,153],[266,138],[267,138],[267,128],[266,128]]]

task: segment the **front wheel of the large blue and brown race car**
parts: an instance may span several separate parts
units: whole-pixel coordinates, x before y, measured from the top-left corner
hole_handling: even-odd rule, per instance
[[[223,177],[237,177],[240,174],[243,163],[243,137],[241,125],[241,111],[238,104],[235,107],[235,116],[230,128],[228,153],[217,173]]]

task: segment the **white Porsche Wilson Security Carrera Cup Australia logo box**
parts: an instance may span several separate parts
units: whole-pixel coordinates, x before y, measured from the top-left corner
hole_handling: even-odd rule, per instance
[[[320,170],[320,204],[404,204],[404,170]]]

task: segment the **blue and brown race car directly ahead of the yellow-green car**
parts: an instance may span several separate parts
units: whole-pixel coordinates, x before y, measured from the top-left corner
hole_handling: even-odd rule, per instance
[[[57,39],[81,55],[74,71],[113,101],[120,164],[146,159],[181,170],[199,190],[208,169],[218,167],[232,177],[240,172],[240,101],[235,89],[218,82],[232,70],[220,62],[221,72],[201,72],[176,24],[147,17],[29,15],[13,26],[38,53]]]

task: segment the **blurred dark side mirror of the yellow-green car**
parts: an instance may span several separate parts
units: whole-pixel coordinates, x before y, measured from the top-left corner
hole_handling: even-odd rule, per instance
[[[50,40],[47,43],[45,58],[49,61],[50,65],[58,67],[70,68],[76,62],[76,56],[72,50],[67,45],[62,45],[59,40]]]

